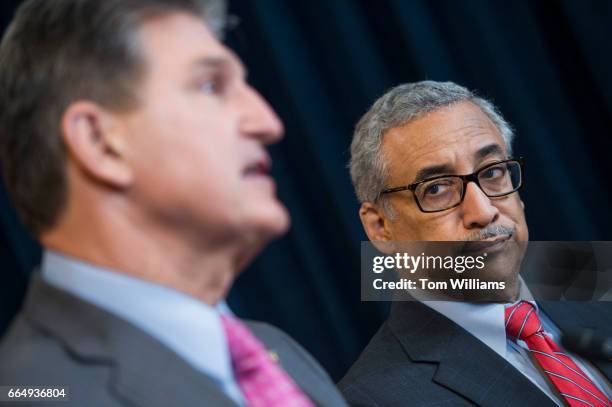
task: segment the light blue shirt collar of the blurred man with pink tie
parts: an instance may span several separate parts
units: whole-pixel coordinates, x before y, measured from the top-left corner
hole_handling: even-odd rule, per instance
[[[43,255],[41,271],[47,283],[142,329],[244,404],[220,319],[220,314],[231,314],[225,302],[212,307],[169,287],[51,250]]]

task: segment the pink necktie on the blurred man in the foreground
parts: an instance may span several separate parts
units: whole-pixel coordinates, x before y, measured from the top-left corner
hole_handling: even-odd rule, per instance
[[[222,315],[234,376],[249,407],[313,407],[312,402],[275,362],[249,328]]]

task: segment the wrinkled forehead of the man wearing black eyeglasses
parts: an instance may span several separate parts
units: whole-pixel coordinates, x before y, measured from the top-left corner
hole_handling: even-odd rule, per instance
[[[480,108],[460,102],[388,130],[382,153],[391,180],[412,182],[424,168],[470,173],[486,160],[506,158],[507,147]]]

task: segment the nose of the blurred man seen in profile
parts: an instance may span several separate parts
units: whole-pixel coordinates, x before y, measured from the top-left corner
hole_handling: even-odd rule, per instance
[[[270,105],[251,86],[246,85],[242,95],[243,109],[240,131],[257,138],[264,144],[272,144],[283,138],[283,122]]]

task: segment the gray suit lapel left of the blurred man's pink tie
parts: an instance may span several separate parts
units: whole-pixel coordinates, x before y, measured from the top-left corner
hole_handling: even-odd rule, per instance
[[[110,387],[137,406],[236,406],[208,376],[135,326],[32,277],[25,317],[80,361],[106,365]]]

